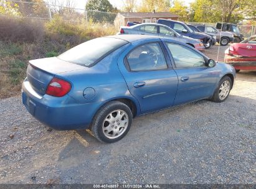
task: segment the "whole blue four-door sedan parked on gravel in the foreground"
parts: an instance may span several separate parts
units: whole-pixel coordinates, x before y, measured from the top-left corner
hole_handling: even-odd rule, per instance
[[[176,40],[115,35],[31,60],[22,102],[53,129],[90,128],[110,143],[122,139],[141,114],[200,99],[225,101],[234,78],[230,65]]]

